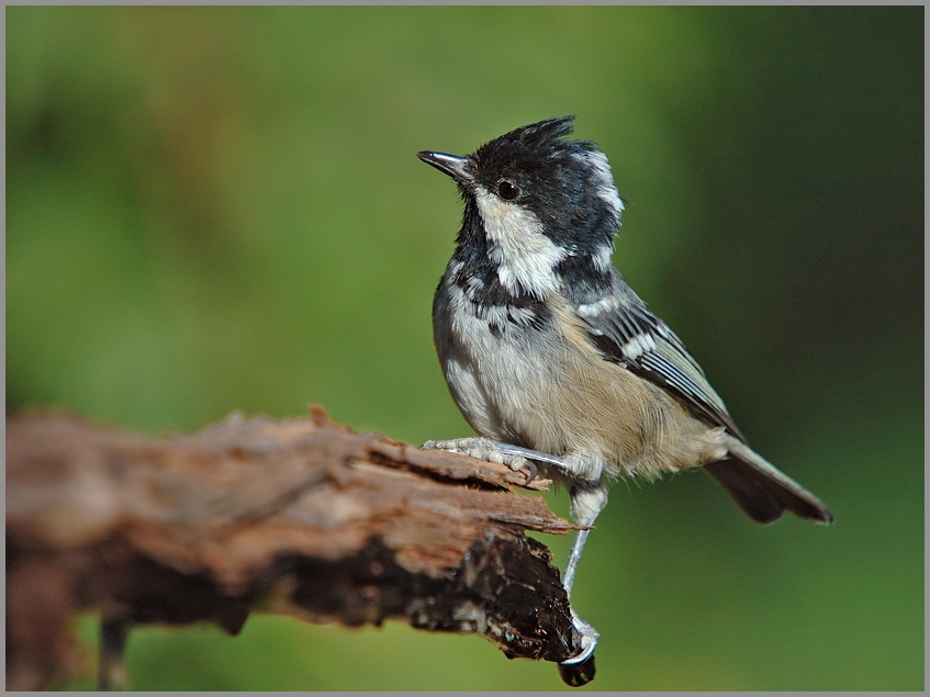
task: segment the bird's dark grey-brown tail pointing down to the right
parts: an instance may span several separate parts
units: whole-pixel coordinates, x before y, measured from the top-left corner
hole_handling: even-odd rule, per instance
[[[704,470],[732,496],[750,518],[773,522],[785,509],[800,518],[830,525],[833,514],[817,496],[778,471],[741,440],[726,435],[730,453]]]

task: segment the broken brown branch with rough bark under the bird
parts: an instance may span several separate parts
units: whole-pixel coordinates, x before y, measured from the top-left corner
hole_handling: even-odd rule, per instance
[[[80,665],[68,621],[399,619],[508,657],[578,652],[525,472],[333,424],[233,414],[156,439],[61,414],[7,421],[7,688]],[[534,481],[529,488],[545,490]],[[568,678],[567,678],[568,679]]]

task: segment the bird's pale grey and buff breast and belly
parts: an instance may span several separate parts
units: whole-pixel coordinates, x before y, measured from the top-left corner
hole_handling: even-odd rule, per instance
[[[446,381],[482,436],[556,456],[584,453],[608,474],[697,464],[699,425],[661,390],[604,360],[560,297],[522,322],[440,286],[434,330]],[[706,430],[706,428],[704,428]]]

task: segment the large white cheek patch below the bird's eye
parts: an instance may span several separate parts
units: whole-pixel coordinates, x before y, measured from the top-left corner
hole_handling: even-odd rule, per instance
[[[512,295],[520,291],[542,299],[559,286],[556,265],[569,256],[542,234],[542,225],[530,211],[508,203],[475,187],[478,212],[491,240],[490,257],[497,265],[497,279]]]

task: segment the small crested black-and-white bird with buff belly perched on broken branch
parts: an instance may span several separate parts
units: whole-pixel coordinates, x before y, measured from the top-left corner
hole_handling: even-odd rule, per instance
[[[439,362],[477,437],[427,441],[541,471],[563,485],[580,526],[562,574],[568,597],[591,527],[618,476],[701,468],[750,518],[830,509],[747,443],[682,340],[614,266],[624,201],[606,155],[569,139],[574,116],[506,133],[467,156],[417,157],[451,177],[464,203],[433,301]],[[580,651],[600,634],[572,610]],[[592,664],[593,667],[593,664]]]

